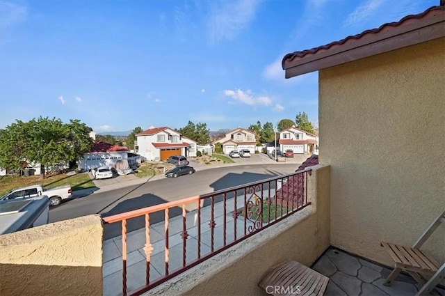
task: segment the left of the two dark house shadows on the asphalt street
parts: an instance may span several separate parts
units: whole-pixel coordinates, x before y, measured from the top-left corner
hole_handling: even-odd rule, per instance
[[[142,208],[151,207],[152,205],[159,205],[161,203],[167,203],[165,199],[156,196],[154,194],[143,194],[142,196],[138,196],[135,198],[127,199],[121,201],[117,205],[115,205],[111,210],[102,214],[102,218],[118,215],[125,212],[130,212],[132,210],[139,210]],[[168,210],[168,217],[172,219],[173,217],[182,215],[182,209],[179,207],[170,208]],[[154,212],[149,215],[149,223],[150,225],[154,225],[165,219],[165,211],[160,210],[158,212]],[[140,228],[145,227],[145,215],[141,215],[139,217],[127,219],[127,233],[131,231],[136,231]],[[111,224],[104,224],[104,240],[108,240],[112,237],[116,237],[122,235],[122,222],[118,221]]]

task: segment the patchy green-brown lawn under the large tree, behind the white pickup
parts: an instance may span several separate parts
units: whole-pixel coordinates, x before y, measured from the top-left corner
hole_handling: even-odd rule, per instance
[[[95,187],[88,173],[77,173],[68,176],[67,173],[60,173],[53,176],[45,176],[44,180],[40,180],[39,176],[3,176],[0,179],[0,196],[7,194],[11,190],[19,187],[26,187],[31,185],[43,185],[47,189],[57,186],[70,185],[72,190],[80,190]]]

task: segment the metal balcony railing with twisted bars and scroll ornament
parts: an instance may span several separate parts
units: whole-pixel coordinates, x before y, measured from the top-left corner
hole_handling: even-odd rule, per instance
[[[140,295],[145,293],[305,208],[310,204],[307,201],[307,178],[311,173],[311,169],[306,169],[284,176],[268,178],[261,182],[252,182],[210,194],[192,196],[179,201],[104,217],[104,224],[122,223],[122,294]],[[181,254],[170,254],[170,240],[177,240],[176,237],[169,235],[170,221],[172,221],[170,213],[178,212],[178,210],[181,213],[179,219],[181,219],[182,225],[179,235],[182,251]],[[159,214],[163,214],[161,223],[163,223],[164,232],[162,247],[163,254],[165,254],[163,267],[165,271],[163,275],[151,281],[150,257],[154,251],[154,245],[150,233],[152,230],[150,217],[156,214],[158,219]],[[146,255],[145,286],[127,291],[127,220],[136,217],[145,217],[145,247],[143,248]],[[193,252],[190,252],[191,246],[187,244],[187,238],[191,235],[197,240],[197,247]],[[217,243],[216,239],[220,243]],[[157,247],[160,246],[159,242],[155,244]],[[179,267],[172,269],[169,263],[170,257],[174,255],[181,256],[182,260]]]

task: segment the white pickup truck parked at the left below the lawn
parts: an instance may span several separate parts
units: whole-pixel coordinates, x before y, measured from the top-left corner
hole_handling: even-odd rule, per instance
[[[72,197],[70,185],[54,187],[45,190],[42,185],[33,185],[12,190],[6,195],[0,197],[0,201],[20,198],[32,198],[35,196],[46,195],[49,198],[49,204],[52,206],[60,205],[63,199]]]

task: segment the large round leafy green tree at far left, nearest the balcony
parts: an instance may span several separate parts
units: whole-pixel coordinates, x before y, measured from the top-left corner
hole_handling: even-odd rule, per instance
[[[17,120],[0,132],[0,166],[19,168],[26,162],[40,164],[40,179],[45,167],[75,162],[88,152],[94,141],[90,129],[79,120],[64,124],[60,119]]]

